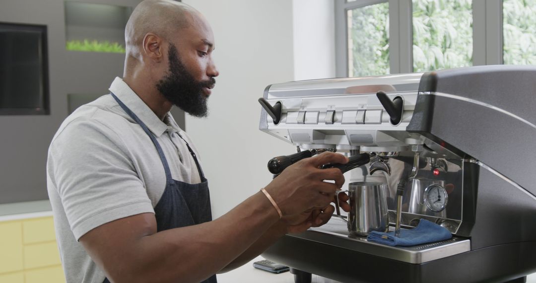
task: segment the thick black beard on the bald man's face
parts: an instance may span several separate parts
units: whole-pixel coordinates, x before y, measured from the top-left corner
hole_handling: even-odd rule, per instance
[[[210,78],[197,81],[178,58],[177,48],[169,44],[168,74],[157,84],[158,91],[173,105],[195,117],[208,115],[207,99],[203,93],[204,87],[212,87],[216,80]]]

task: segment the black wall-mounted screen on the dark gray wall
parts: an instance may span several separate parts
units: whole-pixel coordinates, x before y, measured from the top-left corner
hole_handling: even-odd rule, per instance
[[[0,115],[48,115],[47,27],[0,23]]]

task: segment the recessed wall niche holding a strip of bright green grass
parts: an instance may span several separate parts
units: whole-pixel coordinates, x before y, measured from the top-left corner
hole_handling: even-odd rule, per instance
[[[65,48],[125,53],[124,32],[131,7],[65,1]]]

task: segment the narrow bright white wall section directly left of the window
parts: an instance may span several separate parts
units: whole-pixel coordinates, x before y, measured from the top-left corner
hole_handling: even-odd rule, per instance
[[[335,77],[333,0],[293,0],[294,80]]]

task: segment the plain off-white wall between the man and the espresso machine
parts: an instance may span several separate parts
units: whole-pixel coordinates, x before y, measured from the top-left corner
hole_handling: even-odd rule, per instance
[[[183,0],[211,24],[220,71],[206,119],[186,130],[209,179],[214,218],[271,180],[267,161],[295,148],[258,130],[264,88],[293,80],[292,2]]]

